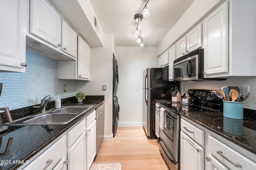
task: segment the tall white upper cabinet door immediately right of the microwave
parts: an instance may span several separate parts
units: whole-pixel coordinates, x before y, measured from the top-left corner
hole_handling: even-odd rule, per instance
[[[225,2],[203,21],[204,72],[228,72],[228,14]]]

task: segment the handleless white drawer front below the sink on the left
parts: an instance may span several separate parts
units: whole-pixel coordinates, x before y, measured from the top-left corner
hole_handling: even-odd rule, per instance
[[[82,135],[85,131],[85,119],[80,121],[67,133],[68,148]]]

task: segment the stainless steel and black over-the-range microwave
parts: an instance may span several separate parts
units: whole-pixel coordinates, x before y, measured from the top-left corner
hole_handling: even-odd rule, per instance
[[[226,80],[226,78],[204,78],[204,49],[197,49],[174,60],[173,80],[207,81]]]

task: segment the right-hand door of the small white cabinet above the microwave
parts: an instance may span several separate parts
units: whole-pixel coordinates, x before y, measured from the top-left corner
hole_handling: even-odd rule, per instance
[[[194,27],[189,33],[186,35],[187,40],[187,53],[194,51],[202,47],[202,23]]]

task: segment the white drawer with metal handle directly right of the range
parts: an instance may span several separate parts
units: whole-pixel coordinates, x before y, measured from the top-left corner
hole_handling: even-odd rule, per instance
[[[196,141],[198,144],[204,146],[204,131],[198,129],[183,119],[180,120],[180,129],[186,133],[186,135],[194,139],[194,141]]]

